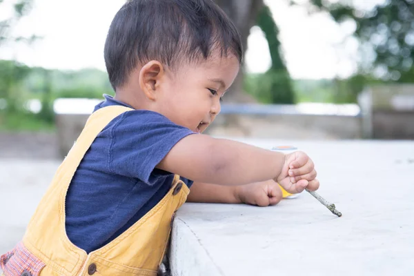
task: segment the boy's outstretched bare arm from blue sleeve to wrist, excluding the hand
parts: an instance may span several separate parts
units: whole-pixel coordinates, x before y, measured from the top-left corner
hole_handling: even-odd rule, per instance
[[[197,182],[230,186],[275,179],[284,160],[281,152],[208,135],[188,135],[157,168]]]

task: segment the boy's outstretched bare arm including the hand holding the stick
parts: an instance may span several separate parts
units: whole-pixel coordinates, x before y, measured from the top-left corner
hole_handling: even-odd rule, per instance
[[[184,137],[157,168],[201,183],[234,186],[273,179],[289,193],[319,187],[313,161],[304,152],[284,155],[207,135]]]

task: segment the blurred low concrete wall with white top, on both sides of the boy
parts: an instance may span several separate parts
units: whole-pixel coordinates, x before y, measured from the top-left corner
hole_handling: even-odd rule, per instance
[[[59,99],[55,103],[59,154],[66,156],[97,100]],[[356,105],[223,105],[206,134],[273,139],[360,139]]]

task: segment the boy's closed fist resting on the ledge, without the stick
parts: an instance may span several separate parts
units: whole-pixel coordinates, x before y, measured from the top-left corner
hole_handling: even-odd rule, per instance
[[[264,207],[278,204],[282,199],[282,190],[280,190],[279,185],[273,179],[240,185],[235,188],[237,201],[245,204]]]

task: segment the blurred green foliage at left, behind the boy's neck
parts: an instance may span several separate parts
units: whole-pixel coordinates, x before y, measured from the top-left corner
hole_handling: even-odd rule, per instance
[[[0,60],[0,130],[50,129],[54,123],[53,101],[57,98],[101,99],[112,94],[106,72],[29,68],[15,61]],[[41,110],[28,112],[29,99],[39,99]]]

